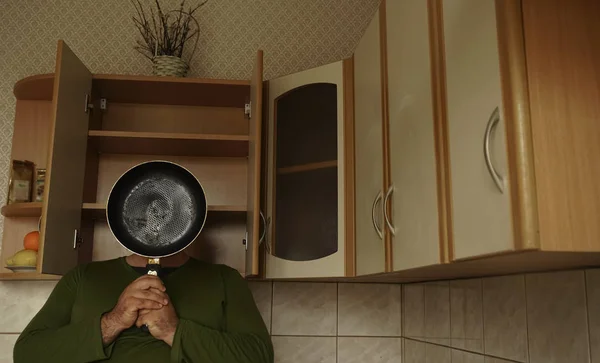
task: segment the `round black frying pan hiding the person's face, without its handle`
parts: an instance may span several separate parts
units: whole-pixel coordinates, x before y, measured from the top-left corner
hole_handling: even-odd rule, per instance
[[[175,163],[150,161],[131,168],[115,183],[106,218],[125,248],[160,258],[194,241],[206,211],[204,190],[192,173]]]

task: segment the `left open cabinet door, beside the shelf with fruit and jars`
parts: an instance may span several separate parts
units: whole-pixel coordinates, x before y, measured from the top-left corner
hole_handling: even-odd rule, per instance
[[[60,40],[54,77],[38,269],[62,275],[77,265],[92,74]]]

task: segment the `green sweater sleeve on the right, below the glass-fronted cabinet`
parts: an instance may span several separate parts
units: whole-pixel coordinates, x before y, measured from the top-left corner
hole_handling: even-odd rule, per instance
[[[273,345],[246,281],[232,269],[223,272],[226,326],[215,330],[180,319],[171,363],[273,363]]]

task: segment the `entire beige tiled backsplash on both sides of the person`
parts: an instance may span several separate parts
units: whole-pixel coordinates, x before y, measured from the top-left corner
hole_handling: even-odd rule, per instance
[[[277,363],[600,363],[600,269],[427,282],[250,281]],[[0,363],[55,282],[0,283]]]

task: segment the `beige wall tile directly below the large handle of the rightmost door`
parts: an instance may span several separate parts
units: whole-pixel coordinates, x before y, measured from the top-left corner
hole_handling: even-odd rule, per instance
[[[483,331],[486,355],[527,362],[525,276],[483,279]]]

